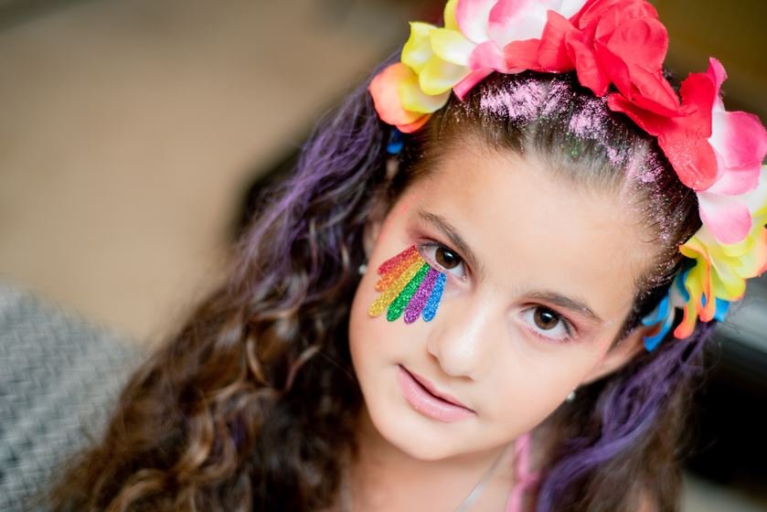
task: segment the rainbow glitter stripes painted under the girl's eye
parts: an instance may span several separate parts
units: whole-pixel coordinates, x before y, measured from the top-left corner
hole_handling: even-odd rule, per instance
[[[381,294],[370,305],[370,316],[386,311],[386,319],[394,322],[404,313],[405,324],[412,324],[419,316],[430,322],[437,314],[447,276],[431,268],[414,245],[381,263],[378,274]]]

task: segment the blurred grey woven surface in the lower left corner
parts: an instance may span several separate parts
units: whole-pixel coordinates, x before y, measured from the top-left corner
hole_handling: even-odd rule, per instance
[[[0,510],[39,508],[29,498],[99,435],[140,357],[129,338],[0,282]]]

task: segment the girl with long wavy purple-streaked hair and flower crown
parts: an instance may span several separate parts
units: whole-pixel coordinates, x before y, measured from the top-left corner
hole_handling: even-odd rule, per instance
[[[451,0],[133,375],[76,510],[673,510],[767,133],[644,0]]]

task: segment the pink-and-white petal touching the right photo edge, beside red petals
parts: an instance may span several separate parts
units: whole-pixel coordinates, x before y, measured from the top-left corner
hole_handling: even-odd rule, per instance
[[[767,131],[759,118],[747,112],[717,112],[711,118],[708,142],[728,167],[762,165],[767,154]]]

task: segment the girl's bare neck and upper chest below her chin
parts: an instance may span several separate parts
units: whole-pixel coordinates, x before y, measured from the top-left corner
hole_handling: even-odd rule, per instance
[[[455,510],[484,477],[481,502],[505,503],[514,478],[513,451],[504,452],[506,445],[424,461],[384,439],[366,408],[357,425],[358,451],[348,475],[352,510]],[[494,508],[503,505],[482,509]]]

